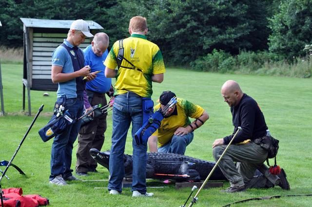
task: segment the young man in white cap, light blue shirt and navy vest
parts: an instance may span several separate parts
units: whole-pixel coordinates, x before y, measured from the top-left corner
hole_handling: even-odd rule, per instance
[[[55,114],[61,109],[68,110],[70,115],[78,118],[83,114],[83,91],[85,81],[92,80],[96,75],[90,74],[90,67],[84,66],[84,56],[78,46],[84,39],[91,38],[90,28],[82,19],[75,20],[68,31],[67,38],[52,54],[51,79],[59,84]],[[80,121],[69,125],[54,137],[51,149],[50,183],[64,186],[66,181],[78,180],[72,174],[73,144],[77,139]]]

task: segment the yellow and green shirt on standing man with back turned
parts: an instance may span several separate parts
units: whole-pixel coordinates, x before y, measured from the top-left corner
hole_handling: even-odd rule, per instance
[[[132,34],[131,37],[124,39],[123,46],[124,58],[141,69],[143,73],[120,67],[116,76],[114,95],[131,91],[142,97],[151,97],[153,94],[152,75],[166,71],[158,46],[148,41],[144,35],[138,34]],[[105,59],[106,67],[113,70],[117,67],[118,50],[119,41],[116,41]],[[123,60],[121,65],[132,67],[126,60]]]

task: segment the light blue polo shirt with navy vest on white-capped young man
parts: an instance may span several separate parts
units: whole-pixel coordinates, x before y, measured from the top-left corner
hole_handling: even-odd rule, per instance
[[[62,73],[74,73],[75,71],[78,71],[82,67],[84,67],[84,65],[82,63],[81,68],[80,66],[76,66],[74,68],[72,58],[78,59],[78,61],[83,60],[83,52],[78,47],[74,48],[74,46],[66,39],[64,39],[63,43],[70,48],[69,52],[71,53],[71,55],[65,47],[60,45],[59,47],[57,47],[57,49],[55,49],[52,54],[52,65],[62,67]],[[80,54],[82,54],[82,56],[79,56]],[[73,78],[66,82],[59,82],[57,96],[61,97],[62,95],[66,95],[66,98],[76,98],[82,96],[82,91],[84,87],[85,86],[84,82],[82,81],[82,77]]]

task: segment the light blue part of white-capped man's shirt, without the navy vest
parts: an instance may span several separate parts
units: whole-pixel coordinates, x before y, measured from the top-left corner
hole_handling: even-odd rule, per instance
[[[74,47],[66,39],[64,39],[64,44],[66,44],[70,48]],[[81,51],[80,48],[78,50]],[[74,51],[71,51],[71,54],[75,56]],[[61,45],[57,47],[57,49],[55,49],[55,51],[52,54],[52,65],[62,67],[63,68],[62,73],[74,73],[75,71],[80,70],[80,68],[76,68],[76,70],[74,70],[71,56],[69,55],[67,50]],[[66,95],[66,98],[76,98],[78,96],[77,88],[78,85],[76,82],[76,78],[66,82],[59,82],[57,96],[61,97],[62,95]]]

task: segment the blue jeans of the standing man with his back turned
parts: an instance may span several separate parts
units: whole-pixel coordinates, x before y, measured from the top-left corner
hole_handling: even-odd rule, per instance
[[[146,192],[147,144],[137,145],[134,135],[142,125],[142,100],[132,92],[115,97],[113,107],[112,148],[109,158],[110,180],[108,190],[121,192],[122,179],[125,174],[123,153],[126,137],[132,122],[133,175],[132,191]]]

